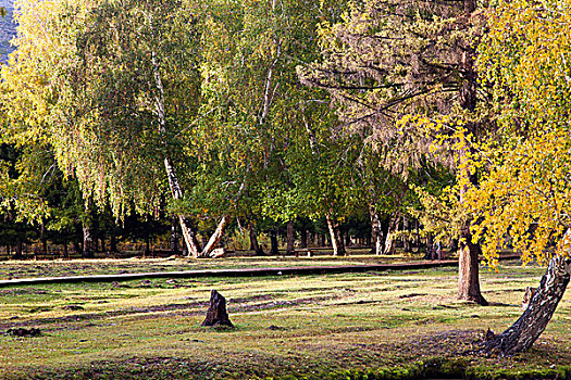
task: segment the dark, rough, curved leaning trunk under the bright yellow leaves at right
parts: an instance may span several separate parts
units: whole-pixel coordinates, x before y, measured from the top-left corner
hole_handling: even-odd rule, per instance
[[[522,316],[506,331],[484,343],[482,352],[510,356],[530,349],[551,319],[569,283],[571,261],[556,256]]]

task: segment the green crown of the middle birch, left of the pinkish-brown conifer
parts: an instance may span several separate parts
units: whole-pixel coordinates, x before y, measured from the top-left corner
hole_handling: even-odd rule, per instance
[[[208,177],[218,177],[219,183],[244,183],[243,202],[237,205],[241,214],[261,203],[266,216],[291,221],[302,211],[297,206],[303,197],[294,178],[300,166],[294,168],[293,161],[300,157],[294,156],[309,153],[300,159],[306,162],[303,176],[319,177],[307,170],[311,151],[296,144],[306,143],[314,138],[315,129],[334,122],[322,102],[324,94],[301,86],[296,66],[315,55],[320,20],[335,17],[343,2],[210,3],[200,66],[204,96],[200,114],[204,117],[197,123],[204,136],[200,155],[209,157],[202,161],[210,168]],[[222,192],[212,181],[208,183],[200,188],[203,197],[197,198],[220,198]],[[215,207],[212,203],[220,204],[210,202],[202,208]],[[331,215],[334,230],[337,218]]]

